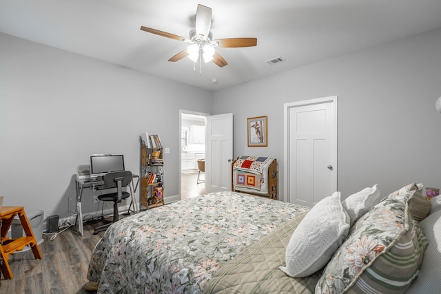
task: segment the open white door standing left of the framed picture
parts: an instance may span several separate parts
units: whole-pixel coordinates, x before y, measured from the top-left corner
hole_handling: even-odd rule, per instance
[[[233,114],[207,116],[205,191],[231,191]]]

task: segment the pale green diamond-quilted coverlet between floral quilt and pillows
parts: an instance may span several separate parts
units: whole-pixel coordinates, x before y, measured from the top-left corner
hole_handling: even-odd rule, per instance
[[[304,216],[296,216],[226,262],[204,293],[314,293],[320,273],[293,278],[279,269],[285,264],[289,239]]]

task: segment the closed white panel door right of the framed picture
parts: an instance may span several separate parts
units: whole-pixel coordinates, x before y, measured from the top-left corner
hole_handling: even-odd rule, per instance
[[[312,207],[337,191],[337,97],[285,104],[285,200]]]

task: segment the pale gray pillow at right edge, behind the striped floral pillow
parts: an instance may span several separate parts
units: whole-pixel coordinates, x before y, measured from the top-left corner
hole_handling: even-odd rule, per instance
[[[427,218],[424,218],[420,222],[420,227],[422,227],[429,245],[424,251],[420,273],[406,293],[441,293],[441,235],[439,233],[441,231],[441,211],[431,213]]]

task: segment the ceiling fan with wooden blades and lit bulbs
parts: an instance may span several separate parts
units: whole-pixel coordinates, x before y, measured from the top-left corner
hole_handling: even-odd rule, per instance
[[[257,45],[256,38],[229,38],[213,40],[213,34],[210,32],[212,26],[212,8],[198,5],[196,10],[196,28],[190,30],[189,39],[176,34],[170,34],[169,32],[163,32],[161,30],[155,30],[141,26],[141,30],[157,34],[158,36],[165,36],[170,39],[183,41],[190,43],[187,49],[172,56],[168,61],[176,62],[188,56],[194,62],[194,70],[196,71],[196,63],[200,64],[199,74],[202,73],[202,61],[207,63],[213,61],[218,67],[224,67],[228,65],[227,61],[223,59],[214,48],[240,48],[240,47],[252,47]]]

